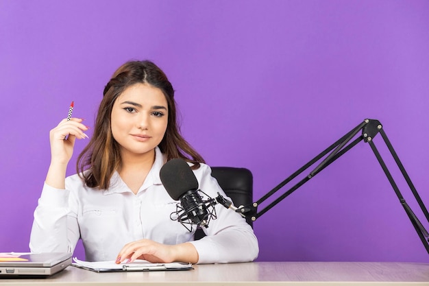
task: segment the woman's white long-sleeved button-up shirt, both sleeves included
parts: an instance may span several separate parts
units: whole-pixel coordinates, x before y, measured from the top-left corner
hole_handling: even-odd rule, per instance
[[[193,241],[189,232],[171,219],[174,201],[160,180],[164,156],[156,147],[156,159],[137,194],[132,193],[118,173],[110,188],[100,190],[84,185],[79,176],[66,178],[66,189],[45,184],[38,206],[29,247],[32,252],[73,252],[82,239],[87,261],[110,261],[126,243],[151,239],[164,244],[190,241],[199,254],[198,263],[252,261],[258,256],[258,241],[245,219],[217,204],[217,219],[205,228],[208,235]],[[225,196],[211,169],[201,164],[193,170],[199,189],[211,198]]]

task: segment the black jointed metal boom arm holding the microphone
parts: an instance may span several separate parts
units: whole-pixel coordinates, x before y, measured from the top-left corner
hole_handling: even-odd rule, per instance
[[[358,138],[356,138],[354,141],[350,142],[354,138],[354,136],[356,136],[356,134],[358,134],[358,132],[360,130],[362,130],[362,134],[360,136],[358,136]],[[252,205],[238,207],[235,209],[235,211],[237,213],[241,213],[241,215],[243,215],[245,217],[250,217],[252,219],[252,221],[256,221],[256,219],[258,219],[258,217],[260,217],[261,215],[263,215],[264,213],[269,211],[271,208],[273,208],[273,206],[275,206],[276,204],[278,204],[279,202],[284,200],[284,198],[291,195],[291,193],[293,193],[299,187],[301,187],[303,184],[308,182],[308,180],[310,180],[315,175],[317,175],[320,171],[322,171],[323,169],[328,167],[328,165],[333,163],[336,159],[343,156],[343,154],[345,154],[345,152],[352,149],[352,147],[354,147],[355,145],[360,143],[360,141],[365,141],[365,143],[369,143],[369,146],[371,146],[371,150],[375,154],[375,156],[378,160],[378,163],[380,163],[380,165],[384,171],[384,174],[387,176],[387,179],[391,183],[391,186],[393,187],[393,191],[395,191],[397,198],[400,200],[400,203],[404,207],[404,210],[405,210],[406,214],[408,215],[408,218],[410,219],[415,230],[417,231],[417,235],[419,235],[421,242],[424,244],[426,251],[429,253],[429,243],[428,243],[429,234],[428,234],[428,232],[426,231],[424,226],[421,224],[421,222],[419,221],[419,219],[417,218],[417,216],[415,215],[413,210],[410,208],[410,206],[408,206],[408,204],[404,200],[402,193],[400,192],[400,189],[397,187],[395,180],[393,180],[393,177],[391,176],[391,173],[390,173],[389,169],[387,168],[387,165],[384,163],[384,160],[382,159],[380,152],[378,152],[376,145],[373,143],[373,138],[378,133],[381,134],[382,139],[384,140],[384,143],[387,145],[389,152],[391,153],[391,155],[393,156],[393,158],[395,160],[395,163],[397,164],[397,167],[399,167],[399,169],[402,173],[402,176],[404,176],[404,178],[408,184],[408,187],[410,187],[410,189],[411,189],[411,191],[415,197],[415,200],[417,200],[417,203],[419,204],[421,211],[423,211],[423,213],[426,217],[426,220],[428,220],[428,222],[429,222],[429,213],[428,213],[426,206],[422,202],[419,194],[417,193],[417,190],[414,187],[413,182],[411,182],[410,177],[406,173],[406,170],[405,170],[404,166],[402,165],[400,158],[397,156],[395,150],[393,149],[393,146],[391,145],[389,139],[387,138],[386,133],[382,129],[382,125],[381,125],[380,121],[375,120],[375,119],[365,119],[362,123],[360,123],[358,126],[356,126],[356,128],[353,128],[352,130],[350,130],[350,132],[347,132],[347,134],[345,134],[343,137],[341,137],[338,141],[336,141],[335,143],[330,145],[328,148],[326,148],[326,150],[323,150],[323,152],[321,152],[319,155],[315,156],[315,158],[312,158],[312,160],[310,160],[308,163],[306,163],[306,165],[302,166],[300,169],[295,171],[295,173],[293,173],[291,176],[289,176],[289,178],[286,178],[284,181],[280,182],[280,184],[278,184],[276,187],[274,187],[266,195],[262,196],[262,198],[260,198],[258,201],[254,202]],[[348,143],[348,145],[347,145],[347,143]],[[328,153],[330,153],[330,154],[328,156],[326,156]],[[303,171],[305,171],[306,169],[308,169],[312,165],[315,165],[315,163],[317,163],[319,160],[321,160],[321,158],[323,158],[323,156],[326,156],[326,158],[323,159],[322,162],[319,163],[319,165],[317,165],[317,167],[315,167],[315,169],[310,171],[310,174],[308,174],[308,176],[306,176],[305,178],[303,178],[302,180],[297,182],[297,184],[295,184],[293,187],[291,187],[291,189],[284,192],[277,199],[273,200],[273,202],[271,202],[271,204],[269,204],[268,206],[263,208],[261,211],[259,211],[259,212],[257,211],[258,206],[262,202],[265,202],[265,200],[270,198],[271,195],[273,195],[274,193],[276,193],[277,191],[282,189],[282,187],[284,187],[287,183],[291,182],[291,180],[296,178],[299,174],[302,174]],[[225,204],[223,204],[223,205],[225,206]],[[225,206],[225,207],[228,207],[228,206]]]

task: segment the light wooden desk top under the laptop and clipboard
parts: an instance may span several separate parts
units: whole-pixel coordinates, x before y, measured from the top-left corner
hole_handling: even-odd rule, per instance
[[[16,285],[396,285],[429,286],[429,264],[376,262],[254,262],[194,265],[176,272],[96,273],[76,267],[40,279],[1,279]]]

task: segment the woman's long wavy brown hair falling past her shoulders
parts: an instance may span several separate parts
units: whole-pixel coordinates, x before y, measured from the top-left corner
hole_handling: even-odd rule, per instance
[[[125,62],[117,71],[103,91],[93,136],[88,145],[77,158],[76,169],[88,187],[108,189],[110,178],[121,164],[119,144],[112,136],[110,115],[119,95],[133,84],[150,84],[160,88],[168,104],[168,123],[164,138],[158,145],[167,160],[182,158],[193,163],[193,169],[204,163],[204,159],[180,134],[174,100],[174,89],[167,75],[149,60]]]

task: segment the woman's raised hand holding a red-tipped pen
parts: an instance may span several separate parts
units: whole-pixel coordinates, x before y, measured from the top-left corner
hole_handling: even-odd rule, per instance
[[[49,132],[51,142],[51,164],[67,165],[73,155],[75,140],[85,139],[88,136],[84,131],[88,126],[82,124],[83,119],[71,118],[62,121]]]

